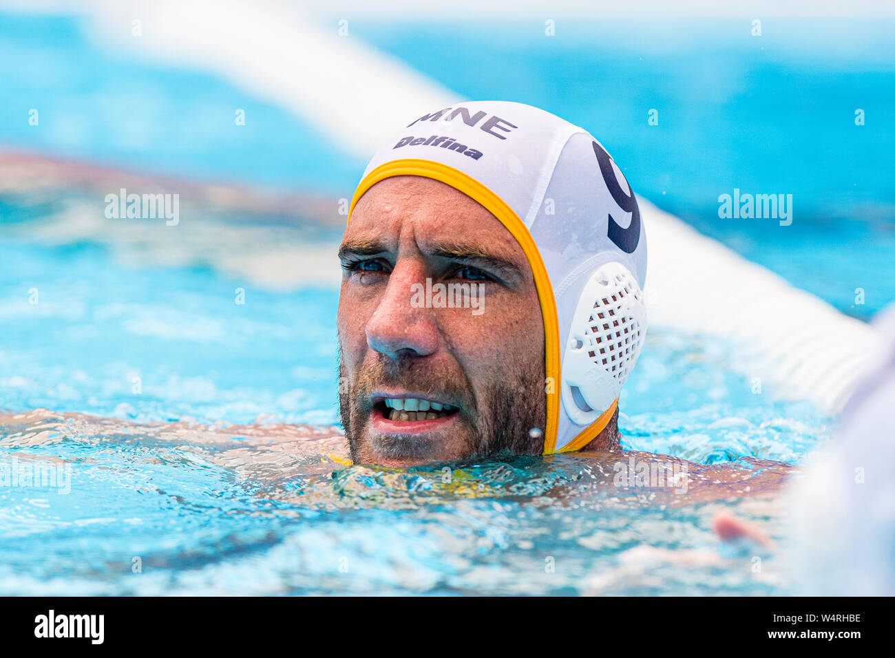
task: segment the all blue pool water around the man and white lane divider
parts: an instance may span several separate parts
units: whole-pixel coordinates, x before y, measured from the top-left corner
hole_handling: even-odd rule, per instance
[[[881,168],[895,130],[884,83],[895,60],[845,58],[831,73],[772,30],[749,59],[742,50],[757,44],[721,46],[728,28],[695,52],[647,48],[641,60],[583,28],[537,46],[520,30],[354,33],[466,96],[533,102],[591,127],[635,189],[845,312],[869,318],[895,298],[891,175]],[[482,38],[491,55],[473,66],[469,46]],[[449,75],[446,52],[462,76]],[[332,198],[348,196],[362,169],[226,81],[108,59],[79,19],[0,14],[0,79],[7,147]],[[592,92],[604,88],[615,91]],[[841,113],[831,105],[844,90],[877,117],[865,132],[849,118],[858,101],[844,98]],[[39,129],[27,124],[30,107],[41,108]],[[234,132],[233,107],[259,120]],[[666,132],[646,126],[650,107]],[[806,120],[805,107],[820,115]],[[837,167],[860,175],[840,180]],[[786,228],[721,223],[714,199],[734,186],[793,193],[804,214]],[[775,555],[720,547],[712,533],[726,509],[785,538],[768,495],[666,504],[606,486],[613,464],[575,455],[465,466],[447,483],[439,468],[344,466],[323,448],[268,457],[228,427],[337,421],[337,290],[311,265],[337,229],[259,229],[251,213],[234,222],[209,211],[176,231],[72,230],[85,212],[101,206],[73,192],[0,194],[0,411],[122,422],[0,424],[0,467],[61,458],[70,477],[67,492],[0,488],[0,594],[792,591]],[[185,249],[185,235],[201,249]],[[245,252],[258,244],[284,249],[297,279],[253,275],[263,249]],[[742,365],[731,346],[651,329],[620,400],[626,448],[708,465],[798,464],[826,440],[829,419],[777,391],[755,394]],[[213,426],[220,439],[202,445],[124,422]]]

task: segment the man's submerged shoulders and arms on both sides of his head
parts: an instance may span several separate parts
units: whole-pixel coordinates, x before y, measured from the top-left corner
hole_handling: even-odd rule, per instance
[[[0,413],[0,447],[4,449],[22,454],[29,447],[72,440],[87,444],[132,443],[142,448],[175,446],[223,466],[242,479],[274,487],[295,474],[328,474],[352,465],[345,435],[333,425],[133,423],[47,409]],[[570,459],[567,466],[586,470],[587,483],[595,489],[624,492],[627,500],[669,506],[772,493],[792,472],[788,464],[753,457],[712,465],[632,451],[580,451],[544,458]],[[561,504],[574,489],[573,484],[562,484],[548,495]]]

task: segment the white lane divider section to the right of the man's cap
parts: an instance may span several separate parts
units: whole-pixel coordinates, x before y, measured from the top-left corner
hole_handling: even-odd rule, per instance
[[[727,338],[750,372],[829,413],[882,354],[879,332],[640,200],[650,324]],[[769,382],[770,383],[770,382]]]

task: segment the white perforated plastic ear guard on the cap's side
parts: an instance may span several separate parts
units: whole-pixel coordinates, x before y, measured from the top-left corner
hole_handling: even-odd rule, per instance
[[[619,262],[584,284],[562,361],[562,404],[576,425],[589,425],[612,405],[646,338],[644,294]]]

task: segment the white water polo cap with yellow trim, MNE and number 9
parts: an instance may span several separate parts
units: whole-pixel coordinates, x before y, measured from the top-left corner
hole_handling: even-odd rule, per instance
[[[583,448],[618,406],[646,335],[646,236],[634,192],[599,141],[537,107],[488,100],[421,116],[354,192],[433,178],[490,210],[531,263],[544,319],[544,453]]]

